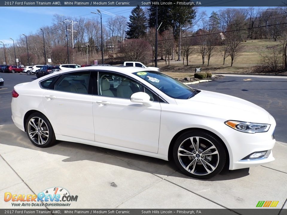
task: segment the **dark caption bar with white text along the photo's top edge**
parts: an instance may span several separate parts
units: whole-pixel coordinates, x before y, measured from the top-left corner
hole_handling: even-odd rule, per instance
[[[149,7],[198,6],[198,7],[281,7],[286,6],[281,0],[19,0],[0,1],[1,7]]]

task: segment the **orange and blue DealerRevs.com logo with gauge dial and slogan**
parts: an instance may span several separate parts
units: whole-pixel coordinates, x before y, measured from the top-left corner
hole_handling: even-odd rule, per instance
[[[4,201],[11,202],[12,206],[71,206],[69,202],[77,202],[78,196],[72,196],[61,187],[48,188],[36,194],[4,193]]]

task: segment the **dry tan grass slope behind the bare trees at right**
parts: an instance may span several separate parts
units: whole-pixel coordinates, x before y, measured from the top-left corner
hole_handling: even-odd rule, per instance
[[[166,74],[174,78],[184,78],[186,76],[192,76],[195,71],[195,68],[197,67],[200,67],[201,71],[203,72],[208,71],[211,73],[255,74],[252,71],[252,67],[262,65],[261,55],[271,55],[274,47],[283,49],[283,45],[280,43],[280,41],[274,42],[271,40],[247,40],[246,42],[242,42],[242,52],[238,54],[238,56],[233,62],[232,67],[230,66],[230,57],[227,57],[225,59],[225,64],[223,65],[223,58],[221,53],[219,52],[219,47],[216,47],[213,56],[211,56],[209,66],[207,67],[207,58],[205,58],[205,64],[202,65],[202,58],[197,54],[197,48],[194,47],[192,50],[192,54],[189,56],[188,59],[188,66],[186,65],[186,59],[184,59],[184,65],[181,59],[181,61],[170,60],[170,66],[166,65],[165,61],[158,61],[158,67],[160,68],[161,72],[166,72]],[[176,54],[175,58],[177,59]],[[278,74],[287,75],[286,72]]]

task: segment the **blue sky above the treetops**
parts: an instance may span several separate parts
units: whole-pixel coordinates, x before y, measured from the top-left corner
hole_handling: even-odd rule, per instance
[[[17,41],[20,34],[29,35],[36,33],[37,29],[44,26],[50,26],[53,23],[53,15],[74,17],[77,20],[80,17],[92,18],[99,15],[91,14],[91,11],[101,10],[103,24],[109,16],[121,15],[129,18],[133,7],[0,7],[1,10],[1,33],[0,41],[6,44],[13,44],[12,38]],[[207,15],[218,7],[201,7],[200,11],[205,10]]]

